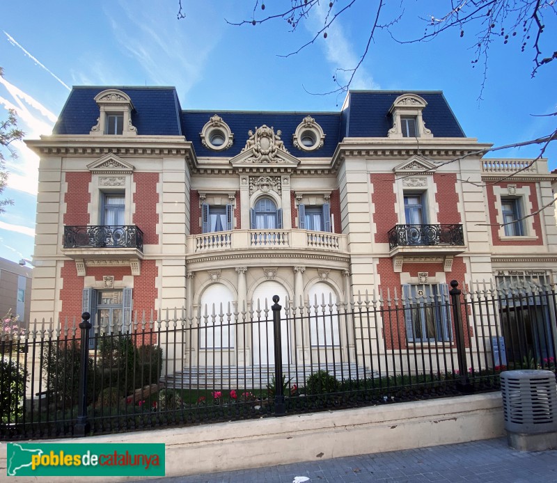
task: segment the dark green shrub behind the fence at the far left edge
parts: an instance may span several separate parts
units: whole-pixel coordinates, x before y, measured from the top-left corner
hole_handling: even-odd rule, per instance
[[[0,358],[0,415],[2,422],[13,422],[22,415],[27,371],[17,361]]]

